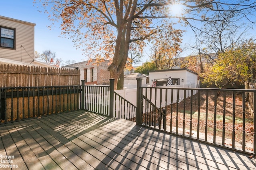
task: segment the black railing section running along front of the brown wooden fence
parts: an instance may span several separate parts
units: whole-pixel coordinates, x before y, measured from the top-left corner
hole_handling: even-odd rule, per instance
[[[0,88],[1,123],[79,109],[80,86]]]

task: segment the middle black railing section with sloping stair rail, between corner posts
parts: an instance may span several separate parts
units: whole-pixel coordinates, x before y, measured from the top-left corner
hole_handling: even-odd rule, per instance
[[[135,121],[136,106],[114,92],[114,79],[110,79],[110,85],[84,85],[82,80],[82,109]]]

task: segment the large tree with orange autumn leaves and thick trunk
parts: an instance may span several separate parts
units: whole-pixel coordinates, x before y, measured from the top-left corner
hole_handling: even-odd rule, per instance
[[[236,2],[236,3],[234,3]],[[110,78],[117,80],[124,70],[131,43],[143,49],[152,38],[175,33],[173,18],[186,25],[194,21],[211,21],[212,12],[235,9],[241,16],[250,14],[256,2],[236,0],[42,0],[46,12],[50,8],[53,22],[61,21],[62,33],[72,38],[77,47],[93,58],[112,58]],[[177,15],[171,6],[183,6]],[[173,9],[177,9],[178,6]],[[48,11],[49,12],[49,11]]]

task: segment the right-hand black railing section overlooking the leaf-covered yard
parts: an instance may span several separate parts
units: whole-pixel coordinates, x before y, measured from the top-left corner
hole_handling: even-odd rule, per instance
[[[256,105],[252,112],[246,102],[256,90],[141,87],[140,81],[137,124],[256,153]]]

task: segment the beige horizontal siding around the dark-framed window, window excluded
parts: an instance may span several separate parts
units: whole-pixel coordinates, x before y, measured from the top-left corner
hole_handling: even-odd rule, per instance
[[[0,16],[0,25],[16,29],[16,49],[0,48],[0,57],[25,63],[34,61],[34,26],[36,24]]]

